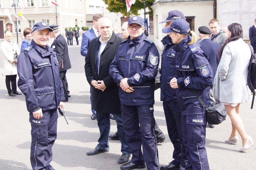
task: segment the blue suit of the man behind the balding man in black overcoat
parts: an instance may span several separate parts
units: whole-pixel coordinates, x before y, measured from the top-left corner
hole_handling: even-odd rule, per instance
[[[80,51],[82,56],[86,56],[91,40],[93,38],[96,38],[96,37],[97,36],[95,35],[95,33],[93,31],[93,27],[91,29],[89,29],[88,31],[83,33],[82,43],[81,43],[81,51]],[[90,88],[90,94],[92,96],[92,87]],[[92,99],[91,99],[91,105],[92,105]],[[92,110],[93,114],[96,113],[96,111],[94,111],[93,108],[91,108],[91,110]]]

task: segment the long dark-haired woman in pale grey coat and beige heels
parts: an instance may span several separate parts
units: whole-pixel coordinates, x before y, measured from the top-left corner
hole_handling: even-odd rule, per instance
[[[240,151],[253,145],[252,138],[245,132],[244,124],[239,114],[240,103],[247,103],[251,91],[247,85],[248,66],[251,50],[243,40],[242,26],[233,23],[228,26],[228,38],[220,49],[220,63],[217,68],[214,91],[227,109],[227,115],[232,124],[231,135],[226,142],[237,144],[237,132],[242,138]]]

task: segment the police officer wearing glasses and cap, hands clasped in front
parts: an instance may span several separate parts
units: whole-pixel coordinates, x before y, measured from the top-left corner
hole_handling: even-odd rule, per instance
[[[159,53],[155,44],[143,34],[145,27],[141,17],[130,17],[128,28],[129,37],[120,43],[109,69],[120,85],[123,129],[133,154],[131,161],[120,168],[145,168],[146,162],[148,169],[159,169],[153,106]]]

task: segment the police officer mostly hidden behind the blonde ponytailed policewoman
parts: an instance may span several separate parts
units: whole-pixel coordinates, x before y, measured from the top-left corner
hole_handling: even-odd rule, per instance
[[[183,19],[186,20],[183,13],[178,10],[169,11],[166,20],[160,23],[166,23],[165,28],[169,27],[174,20]],[[165,120],[168,130],[169,138],[173,144],[174,150],[172,154],[173,160],[169,162],[169,165],[163,165],[161,170],[171,169],[185,169],[187,164],[186,147],[182,142],[181,132],[181,115],[180,108],[178,106],[176,90],[170,86],[170,80],[176,75],[175,66],[175,50],[172,47],[172,39],[170,33],[161,41],[164,45],[161,62],[161,93],[160,99],[163,101],[163,110],[165,114]]]

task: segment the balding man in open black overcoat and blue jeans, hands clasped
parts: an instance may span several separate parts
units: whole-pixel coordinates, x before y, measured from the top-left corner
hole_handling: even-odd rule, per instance
[[[84,70],[88,83],[93,86],[92,108],[96,111],[100,137],[98,139],[99,144],[94,150],[87,152],[87,155],[109,151],[109,114],[113,113],[121,141],[122,156],[118,159],[118,162],[125,163],[130,158],[130,152],[123,131],[118,85],[109,75],[110,63],[114,59],[119,44],[124,39],[115,35],[113,24],[108,17],[99,19],[98,28],[100,37],[94,38],[89,44]]]

